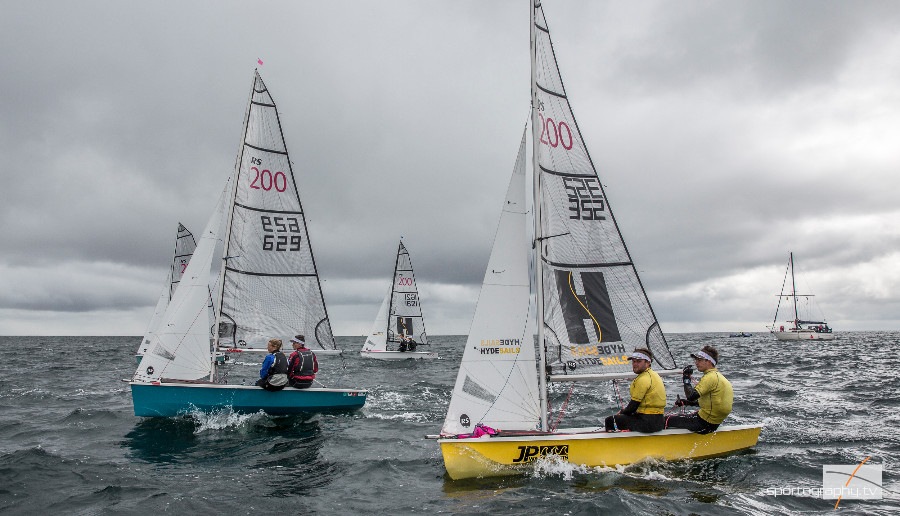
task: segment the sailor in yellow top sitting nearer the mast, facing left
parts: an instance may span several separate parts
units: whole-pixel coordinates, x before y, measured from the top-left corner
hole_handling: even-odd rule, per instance
[[[637,378],[631,382],[631,401],[618,414],[606,418],[606,431],[633,430],[659,432],[665,427],[666,388],[662,378],[650,369],[653,353],[637,348],[628,357]]]

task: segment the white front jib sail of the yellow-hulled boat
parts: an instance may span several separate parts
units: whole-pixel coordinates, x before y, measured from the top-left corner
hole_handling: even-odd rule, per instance
[[[525,203],[525,135],[513,169],[491,257],[475,307],[456,385],[441,433],[476,424],[533,430],[540,426]]]

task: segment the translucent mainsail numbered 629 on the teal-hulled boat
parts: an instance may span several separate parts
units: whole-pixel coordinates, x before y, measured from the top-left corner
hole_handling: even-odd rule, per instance
[[[278,110],[259,73],[245,118],[229,214],[219,348],[306,335],[334,349],[331,323]]]

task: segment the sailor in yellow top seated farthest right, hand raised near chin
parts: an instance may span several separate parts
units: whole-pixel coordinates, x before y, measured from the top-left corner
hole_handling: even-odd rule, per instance
[[[696,354],[692,353],[694,365],[703,373],[696,387],[691,385],[693,368],[684,368],[684,395],[687,399],[675,401],[675,406],[699,405],[700,411],[686,416],[670,416],[666,428],[685,428],[699,434],[714,432],[722,421],[731,413],[734,402],[734,391],[731,383],[716,369],[719,352],[712,346],[703,346]]]

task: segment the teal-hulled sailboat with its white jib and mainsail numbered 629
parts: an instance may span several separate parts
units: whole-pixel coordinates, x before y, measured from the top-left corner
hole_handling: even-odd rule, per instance
[[[224,251],[215,282],[217,331],[211,336],[206,314],[219,241]],[[361,407],[365,390],[268,392],[230,385],[228,369],[215,361],[216,352],[266,353],[269,339],[287,342],[301,333],[317,353],[335,349],[278,111],[254,72],[235,171],[130,382],[135,415],[225,407],[277,415]]]

